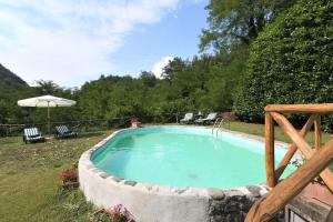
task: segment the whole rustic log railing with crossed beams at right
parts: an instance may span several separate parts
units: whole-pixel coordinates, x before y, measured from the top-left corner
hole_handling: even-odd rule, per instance
[[[311,113],[311,117],[302,130],[297,132],[282,113]],[[333,173],[329,169],[330,163],[333,161],[333,139],[321,147],[321,115],[324,113],[333,113],[333,103],[271,104],[265,107],[266,184],[273,189],[253,204],[245,222],[271,221],[289,201],[297,195],[319,174],[333,192]],[[274,121],[293,141],[276,169],[274,165]],[[315,149],[312,149],[304,139],[313,124]],[[305,164],[278,183],[297,149],[305,157]]]

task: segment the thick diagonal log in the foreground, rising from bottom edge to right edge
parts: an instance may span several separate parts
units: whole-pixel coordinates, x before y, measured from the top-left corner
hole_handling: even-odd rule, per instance
[[[333,161],[333,139],[304,165],[280,182],[271,192],[255,202],[245,222],[268,222],[297,195],[320,172]]]

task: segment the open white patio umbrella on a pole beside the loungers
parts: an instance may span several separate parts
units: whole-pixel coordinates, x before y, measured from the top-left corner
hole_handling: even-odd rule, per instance
[[[77,102],[73,100],[58,98],[58,97],[53,97],[53,95],[49,95],[49,94],[18,101],[18,105],[20,105],[20,107],[48,108],[48,131],[49,131],[49,133],[50,133],[50,108],[72,107],[74,104],[77,104]]]

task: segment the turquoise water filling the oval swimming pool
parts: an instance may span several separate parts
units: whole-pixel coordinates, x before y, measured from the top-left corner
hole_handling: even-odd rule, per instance
[[[283,154],[275,149],[276,163]],[[91,160],[110,174],[152,184],[228,189],[265,181],[262,142],[229,132],[212,135],[205,128],[129,129]]]

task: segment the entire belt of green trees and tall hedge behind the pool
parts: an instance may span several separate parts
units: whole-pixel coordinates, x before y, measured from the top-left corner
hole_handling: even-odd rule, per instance
[[[80,89],[43,80],[29,87],[1,65],[0,123],[43,122],[43,109],[17,105],[42,94],[78,101],[52,109],[54,121],[167,121],[186,111],[233,111],[240,120],[262,122],[268,103],[332,102],[332,0],[211,0],[206,10],[199,54],[175,58],[162,79],[142,71],[139,78],[101,75]],[[327,130],[332,122],[325,119]]]

